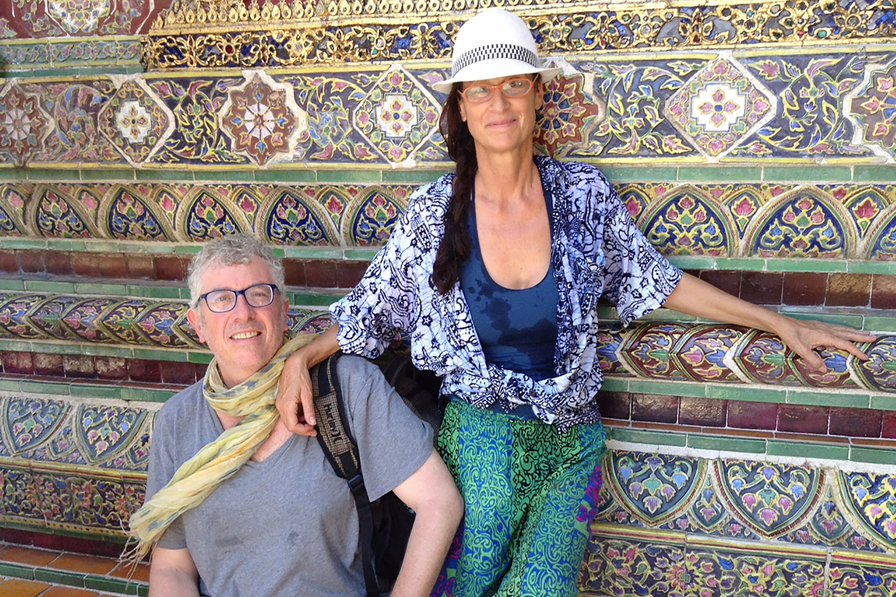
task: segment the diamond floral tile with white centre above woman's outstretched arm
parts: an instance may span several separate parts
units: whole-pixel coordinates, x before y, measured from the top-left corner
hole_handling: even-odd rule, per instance
[[[726,155],[774,116],[771,92],[739,64],[720,58],[707,64],[663,107],[663,114],[707,158]]]

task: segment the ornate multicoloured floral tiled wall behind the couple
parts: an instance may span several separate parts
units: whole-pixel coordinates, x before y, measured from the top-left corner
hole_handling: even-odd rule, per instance
[[[278,20],[235,0],[213,27],[191,2],[82,4],[0,6],[0,526],[108,555],[155,411],[209,361],[190,256],[270,239],[290,326],[325,328],[450,169],[429,83],[491,3],[281,0],[298,16]],[[582,591],[896,594],[892,3],[510,4],[564,68],[539,150],[599,165],[683,269],[878,335],[821,375],[769,334],[662,310],[622,329],[602,305],[611,451]]]

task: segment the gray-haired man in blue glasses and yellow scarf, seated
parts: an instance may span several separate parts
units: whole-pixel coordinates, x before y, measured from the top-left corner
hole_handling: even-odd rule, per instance
[[[272,406],[302,344],[284,345],[280,260],[253,236],[227,236],[194,257],[188,283],[187,319],[214,360],[156,417],[147,501],[131,520],[138,549],[155,542],[151,597],[365,595],[348,484]],[[375,365],[344,356],[337,379],[369,498],[394,490],[417,514],[392,596],[428,595],[463,502],[432,431]]]

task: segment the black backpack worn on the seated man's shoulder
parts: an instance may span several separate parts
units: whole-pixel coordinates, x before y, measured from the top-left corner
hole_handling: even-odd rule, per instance
[[[317,441],[336,474],[349,483],[358,508],[367,597],[380,597],[392,590],[401,570],[410,529],[414,525],[414,513],[392,491],[373,502],[367,499],[358,445],[349,430],[336,377],[336,361],[340,354],[333,354],[309,371],[317,414]],[[410,362],[409,354],[387,351],[374,362],[405,404],[432,426],[435,442],[442,421],[442,404],[438,398],[441,378],[428,371],[419,371]]]

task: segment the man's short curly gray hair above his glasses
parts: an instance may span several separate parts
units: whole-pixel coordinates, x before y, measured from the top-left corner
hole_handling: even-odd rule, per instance
[[[202,274],[207,269],[217,266],[246,265],[254,259],[261,259],[271,266],[274,284],[283,292],[283,263],[274,255],[271,247],[255,235],[239,232],[236,235],[222,236],[209,241],[202,251],[195,254],[187,268],[186,283],[190,286],[190,306],[194,309],[199,304]]]

